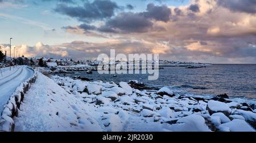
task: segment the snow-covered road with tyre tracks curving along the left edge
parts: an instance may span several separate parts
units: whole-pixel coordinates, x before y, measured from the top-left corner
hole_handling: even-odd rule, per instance
[[[3,77],[0,75],[0,113],[3,110],[3,105],[7,103],[16,87],[34,74],[27,66],[12,68],[11,72],[5,69],[2,72]]]

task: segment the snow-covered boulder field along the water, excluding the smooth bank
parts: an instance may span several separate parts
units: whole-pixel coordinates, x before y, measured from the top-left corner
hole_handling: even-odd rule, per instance
[[[226,94],[213,98],[181,95],[168,87],[147,87],[135,80],[114,83],[57,75],[51,78],[69,94],[96,108],[106,131],[254,132],[256,128],[255,105],[237,102]]]

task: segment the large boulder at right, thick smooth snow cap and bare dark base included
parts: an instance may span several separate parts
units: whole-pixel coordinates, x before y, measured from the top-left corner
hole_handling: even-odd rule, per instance
[[[222,112],[226,116],[229,116],[231,113],[231,109],[229,108],[228,104],[214,100],[209,100],[207,110],[209,111],[210,115],[213,113]]]

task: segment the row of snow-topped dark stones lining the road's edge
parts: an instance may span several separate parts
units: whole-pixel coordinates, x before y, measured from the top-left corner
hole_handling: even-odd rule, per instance
[[[20,103],[24,99],[24,94],[30,89],[31,83],[35,83],[36,78],[38,77],[37,72],[34,71],[34,75],[27,79],[27,81],[20,83],[20,86],[16,88],[13,95],[10,96],[9,101],[3,107],[0,118],[0,131],[2,132],[13,132],[15,128],[15,123],[13,117],[18,116],[18,111],[20,108]]]

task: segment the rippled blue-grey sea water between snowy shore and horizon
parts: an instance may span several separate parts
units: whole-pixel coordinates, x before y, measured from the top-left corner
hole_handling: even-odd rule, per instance
[[[113,74],[97,72],[66,74],[69,77],[74,75],[81,75],[94,81],[116,83],[136,79],[148,86],[169,86],[195,95],[226,93],[233,97],[256,99],[256,65],[211,65],[201,69],[165,67],[159,70],[159,79],[156,81],[148,81],[147,74],[117,74],[117,77],[113,77]]]

